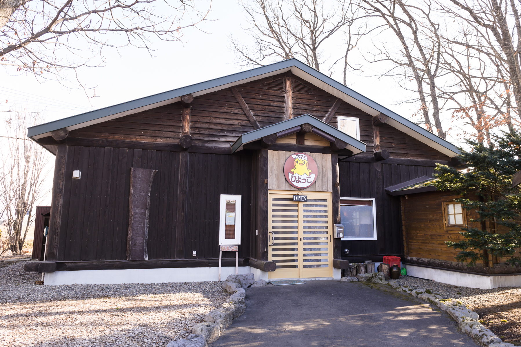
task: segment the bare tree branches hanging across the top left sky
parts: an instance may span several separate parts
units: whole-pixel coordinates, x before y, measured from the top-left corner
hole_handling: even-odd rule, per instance
[[[78,68],[103,63],[103,48],[152,53],[153,37],[180,41],[184,29],[207,19],[211,2],[204,11],[194,2],[0,0],[0,65],[60,81],[72,71],[78,80]]]

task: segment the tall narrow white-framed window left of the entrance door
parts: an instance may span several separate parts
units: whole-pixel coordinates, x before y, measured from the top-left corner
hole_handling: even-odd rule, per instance
[[[219,245],[241,244],[241,196],[221,194]]]

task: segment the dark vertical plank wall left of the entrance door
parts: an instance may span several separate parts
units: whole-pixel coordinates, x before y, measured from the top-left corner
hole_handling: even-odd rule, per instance
[[[251,156],[182,154],[188,156],[184,207],[178,206],[181,153],[68,146],[58,260],[126,259],[132,166],[158,171],[151,190],[149,259],[175,259],[179,249],[177,258],[218,258],[220,194],[243,196],[241,243],[247,246],[240,252],[249,256]],[[81,171],[81,179],[72,179],[73,170]],[[179,209],[187,218],[177,230]],[[182,245],[176,245],[179,240]]]

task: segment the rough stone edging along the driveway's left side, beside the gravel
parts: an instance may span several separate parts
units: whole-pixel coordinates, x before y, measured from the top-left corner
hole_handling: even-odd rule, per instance
[[[186,339],[171,341],[166,347],[208,347],[208,343],[219,339],[221,331],[231,325],[232,319],[239,318],[246,310],[244,288],[266,285],[266,281],[262,279],[254,282],[253,274],[228,276],[226,281],[222,282],[222,288],[232,295],[222,304],[222,309],[208,312],[203,323],[197,323],[192,327],[191,335]]]

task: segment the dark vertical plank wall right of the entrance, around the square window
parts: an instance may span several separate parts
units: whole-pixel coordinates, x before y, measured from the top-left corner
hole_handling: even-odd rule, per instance
[[[342,241],[342,250],[350,250],[349,259],[362,255],[403,254],[400,228],[400,197],[386,194],[385,187],[434,173],[433,166],[381,163],[339,162],[340,196],[376,198],[377,240]]]

